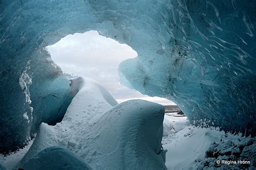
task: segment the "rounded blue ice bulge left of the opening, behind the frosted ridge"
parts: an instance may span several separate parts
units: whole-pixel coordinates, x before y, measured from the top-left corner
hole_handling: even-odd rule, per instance
[[[29,89],[32,101],[30,107],[36,113],[32,113],[35,121],[30,133],[35,133],[41,122],[49,125],[60,122],[74,96],[69,94],[69,75],[63,75],[60,67],[51,60],[48,51],[37,50],[29,65],[28,72],[32,77]]]

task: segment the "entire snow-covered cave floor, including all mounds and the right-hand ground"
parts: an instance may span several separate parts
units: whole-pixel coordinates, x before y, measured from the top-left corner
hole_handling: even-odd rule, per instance
[[[76,96],[63,121],[55,126],[42,123],[35,140],[26,147],[0,155],[1,170],[2,165],[8,169],[38,169],[54,161],[59,163],[57,167],[65,161],[67,166],[81,164],[87,169],[255,167],[255,138],[213,127],[194,127],[187,117],[164,114],[163,106],[145,100],[118,104],[104,87],[88,78],[73,79],[71,93]],[[166,158],[161,144],[167,149]],[[59,161],[58,157],[65,160]],[[244,160],[250,164],[217,164],[217,160]]]

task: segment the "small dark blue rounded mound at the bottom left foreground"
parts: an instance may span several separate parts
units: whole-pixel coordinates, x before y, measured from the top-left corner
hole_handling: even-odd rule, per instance
[[[68,149],[52,146],[44,149],[22,166],[23,169],[91,169],[89,165]]]

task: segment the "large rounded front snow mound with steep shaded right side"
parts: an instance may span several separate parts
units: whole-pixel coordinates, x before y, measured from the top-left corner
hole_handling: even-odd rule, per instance
[[[163,106],[144,100],[129,100],[112,108],[87,133],[86,157],[91,166],[165,169],[161,156],[163,118]]]

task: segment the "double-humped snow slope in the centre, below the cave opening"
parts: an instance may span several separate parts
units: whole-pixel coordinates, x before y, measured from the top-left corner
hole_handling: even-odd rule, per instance
[[[17,168],[28,165],[43,149],[58,145],[93,169],[166,169],[161,149],[163,106],[144,100],[117,105],[104,87],[83,77],[72,80],[73,92],[77,95],[63,121],[56,126],[41,124]]]

